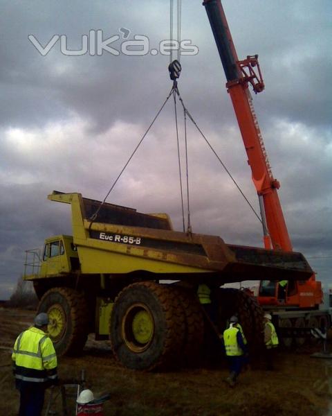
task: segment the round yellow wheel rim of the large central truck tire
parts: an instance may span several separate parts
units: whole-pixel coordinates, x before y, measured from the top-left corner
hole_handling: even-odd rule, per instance
[[[122,338],[133,352],[145,351],[154,336],[154,318],[144,304],[133,304],[122,320]]]

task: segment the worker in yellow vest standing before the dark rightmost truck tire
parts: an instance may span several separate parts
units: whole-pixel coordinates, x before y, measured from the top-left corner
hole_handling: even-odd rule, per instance
[[[247,354],[246,345],[243,343],[243,337],[240,329],[237,327],[239,320],[237,316],[230,318],[230,327],[223,331],[223,343],[225,345],[225,353],[230,366],[230,375],[225,381],[234,387],[237,377],[241,372],[243,365],[243,356]]]

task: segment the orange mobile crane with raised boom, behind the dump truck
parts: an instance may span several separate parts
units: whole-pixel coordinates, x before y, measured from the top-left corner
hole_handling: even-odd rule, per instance
[[[258,62],[258,55],[248,55],[239,60],[232,41],[221,0],[204,0],[216,46],[219,51],[225,76],[226,87],[239,123],[243,144],[248,156],[261,209],[265,248],[290,252],[293,250],[277,189],[279,182],[273,177],[259,123],[252,104],[249,86],[255,94],[264,90],[264,80]],[[284,280],[280,277],[280,281]],[[284,281],[286,283],[286,281]],[[277,281],[266,279],[259,284],[259,304],[273,312],[277,327],[329,327],[328,311],[320,311],[323,301],[322,285],[315,280],[315,274],[306,281],[288,281],[286,292]],[[285,343],[291,345],[292,338]],[[297,338],[303,343],[304,338]]]

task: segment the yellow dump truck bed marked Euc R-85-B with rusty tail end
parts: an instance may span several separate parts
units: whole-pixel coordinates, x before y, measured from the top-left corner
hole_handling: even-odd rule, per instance
[[[167,214],[53,191],[48,199],[71,204],[73,239],[82,273],[209,273],[218,284],[244,280],[305,280],[313,270],[301,253],[226,244],[219,236],[176,232]]]

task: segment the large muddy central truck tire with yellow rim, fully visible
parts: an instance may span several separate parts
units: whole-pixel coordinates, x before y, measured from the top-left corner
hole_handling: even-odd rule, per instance
[[[182,358],[184,314],[176,293],[153,281],[134,283],[116,297],[110,320],[113,354],[135,370],[168,370]]]

